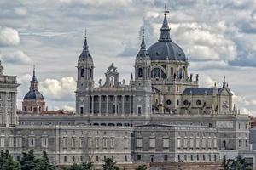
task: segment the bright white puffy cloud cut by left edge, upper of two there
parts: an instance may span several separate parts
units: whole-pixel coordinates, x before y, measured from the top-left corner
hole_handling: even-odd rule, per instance
[[[18,31],[14,28],[0,26],[0,47],[12,46],[20,43]]]

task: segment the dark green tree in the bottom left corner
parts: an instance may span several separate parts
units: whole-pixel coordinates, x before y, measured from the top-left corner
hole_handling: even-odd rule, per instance
[[[20,164],[14,161],[13,156],[9,154],[9,151],[1,151],[1,170],[20,170]]]

